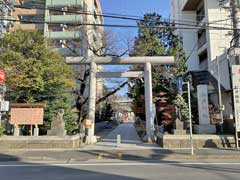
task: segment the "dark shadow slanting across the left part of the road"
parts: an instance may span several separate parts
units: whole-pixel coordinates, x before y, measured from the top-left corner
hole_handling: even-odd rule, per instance
[[[0,154],[0,179],[6,180],[142,180],[142,178],[116,175],[111,170],[101,172],[93,166],[70,164],[44,164],[21,161],[18,157]],[[109,166],[111,167],[111,166]]]

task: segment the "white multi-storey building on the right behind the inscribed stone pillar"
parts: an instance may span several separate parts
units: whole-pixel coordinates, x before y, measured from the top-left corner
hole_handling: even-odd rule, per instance
[[[228,58],[233,37],[230,1],[171,0],[171,18],[176,23],[176,33],[182,37],[183,49],[189,57],[187,64],[188,71],[192,74],[193,86],[197,88],[197,85],[206,85],[206,90],[203,90],[208,96],[206,103],[222,109],[224,119],[232,119]],[[219,106],[219,79],[224,107]],[[203,91],[199,89],[198,97]],[[200,101],[201,97],[198,100],[199,106]],[[208,109],[207,105],[205,109]],[[201,110],[200,107],[199,111]],[[203,116],[209,116],[208,110]]]

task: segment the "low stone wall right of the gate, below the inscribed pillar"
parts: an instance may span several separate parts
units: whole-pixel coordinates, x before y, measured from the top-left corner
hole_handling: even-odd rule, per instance
[[[157,136],[157,143],[163,148],[190,148],[189,135]],[[195,148],[235,148],[235,138],[232,135],[193,135]]]

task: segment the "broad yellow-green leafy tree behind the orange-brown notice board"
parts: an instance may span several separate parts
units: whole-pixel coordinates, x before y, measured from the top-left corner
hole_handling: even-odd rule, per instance
[[[66,127],[71,132],[76,115],[69,92],[75,88],[75,75],[65,60],[50,50],[41,33],[34,31],[6,34],[0,50],[0,67],[7,74],[8,99],[16,103],[47,103],[44,128],[49,128],[58,109],[65,109]]]

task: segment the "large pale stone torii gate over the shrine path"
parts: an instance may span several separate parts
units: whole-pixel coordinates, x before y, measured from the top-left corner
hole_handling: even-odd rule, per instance
[[[67,59],[68,64],[90,64],[90,87],[89,87],[89,104],[87,118],[92,120],[93,125],[86,134],[86,143],[93,144],[96,142],[94,135],[95,110],[96,110],[96,82],[97,78],[134,78],[144,77],[145,82],[145,116],[147,139],[151,141],[154,135],[154,117],[153,117],[153,101],[152,101],[152,65],[172,65],[174,64],[173,56],[160,57],[94,57],[86,61],[79,58]],[[132,72],[97,72],[97,65],[134,65],[144,64],[144,71]]]

